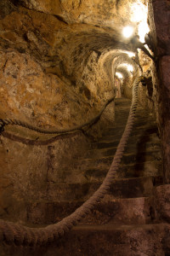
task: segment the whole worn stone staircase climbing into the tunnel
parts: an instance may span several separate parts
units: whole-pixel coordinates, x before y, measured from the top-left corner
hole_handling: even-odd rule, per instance
[[[129,100],[116,99],[114,127],[106,129],[103,137],[77,160],[72,183],[50,183],[46,201],[28,206],[29,224],[56,223],[75,211],[99,188],[122,137],[129,107]],[[161,244],[165,224],[156,219],[152,201],[154,189],[162,183],[161,164],[156,120],[138,107],[120,169],[111,189],[94,211],[56,244],[22,248],[20,254],[14,247],[11,255],[169,255],[164,253]]]

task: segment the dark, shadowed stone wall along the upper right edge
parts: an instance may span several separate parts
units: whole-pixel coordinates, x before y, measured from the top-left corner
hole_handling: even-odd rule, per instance
[[[164,157],[165,182],[170,182],[170,3],[167,0],[150,1],[150,27],[153,46],[156,52],[156,104],[161,131],[162,151]]]

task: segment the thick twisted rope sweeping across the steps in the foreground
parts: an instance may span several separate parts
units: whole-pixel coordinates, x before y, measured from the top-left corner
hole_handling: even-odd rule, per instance
[[[130,108],[130,113],[127,119],[127,125],[123,132],[121,141],[116,149],[114,160],[111,168],[107,173],[104,182],[99,189],[92,195],[88,201],[84,202],[81,207],[71,213],[70,216],[63,218],[57,224],[50,224],[45,228],[28,228],[20,224],[14,224],[8,221],[0,221],[0,240],[6,242],[14,242],[16,245],[42,245],[51,241],[55,241],[59,236],[63,236],[67,231],[76,225],[88,212],[91,212],[96,204],[104,197],[110,189],[111,183],[118,170],[122,159],[124,148],[127,144],[127,139],[133,128],[134,116],[138,105],[138,84],[139,78],[134,80],[133,84],[133,100]]]

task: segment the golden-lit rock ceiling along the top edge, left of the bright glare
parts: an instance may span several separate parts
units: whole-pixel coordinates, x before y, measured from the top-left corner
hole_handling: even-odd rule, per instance
[[[14,3],[16,1],[13,0]],[[129,15],[133,15],[132,4],[136,0],[19,0],[29,9],[57,15],[65,23],[86,23],[105,27],[129,24]],[[145,0],[141,0],[145,3]]]

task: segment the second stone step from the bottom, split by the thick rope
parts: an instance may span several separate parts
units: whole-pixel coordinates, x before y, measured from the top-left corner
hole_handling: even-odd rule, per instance
[[[54,224],[75,212],[84,201],[40,201],[27,205],[27,224]],[[149,224],[153,220],[148,197],[101,200],[79,224]]]

